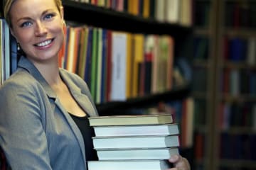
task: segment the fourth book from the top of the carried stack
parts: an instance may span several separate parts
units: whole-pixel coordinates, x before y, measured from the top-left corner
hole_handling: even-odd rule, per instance
[[[132,159],[169,159],[179,154],[178,147],[139,148],[139,149],[96,149],[100,160],[132,160]]]

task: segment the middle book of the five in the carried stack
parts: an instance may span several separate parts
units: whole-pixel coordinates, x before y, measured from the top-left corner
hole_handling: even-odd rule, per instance
[[[95,149],[178,147],[178,135],[92,137]]]

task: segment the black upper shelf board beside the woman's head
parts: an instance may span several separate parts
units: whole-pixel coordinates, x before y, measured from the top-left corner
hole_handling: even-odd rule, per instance
[[[127,12],[114,11],[110,8],[94,6],[75,1],[63,0],[65,20],[86,23],[111,30],[131,33],[168,34],[174,38],[185,37],[191,28],[178,24],[159,23],[152,18],[134,16]]]

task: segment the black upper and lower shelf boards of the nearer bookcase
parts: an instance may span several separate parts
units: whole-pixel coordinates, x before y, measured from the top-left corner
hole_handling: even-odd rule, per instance
[[[186,57],[191,52],[192,29],[181,26],[178,23],[162,23],[154,18],[143,18],[134,16],[126,11],[114,11],[110,8],[84,4],[76,1],[63,0],[65,9],[65,20],[85,23],[89,26],[107,28],[110,30],[127,31],[129,33],[144,33],[157,35],[170,35],[175,40],[175,57]],[[110,102],[97,106],[99,111],[115,107],[126,107],[146,104],[147,101],[160,101],[170,99],[181,99],[186,97],[190,91],[190,83],[174,87],[174,90],[162,94],[148,95],[132,98],[125,102]]]

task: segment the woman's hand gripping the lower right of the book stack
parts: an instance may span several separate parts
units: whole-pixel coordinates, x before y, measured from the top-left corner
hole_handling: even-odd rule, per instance
[[[174,164],[174,168],[171,168],[169,170],[190,170],[190,165],[188,163],[188,160],[186,158],[181,157],[181,155],[173,155],[169,159],[169,162]]]

